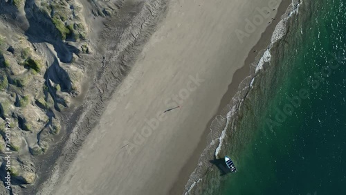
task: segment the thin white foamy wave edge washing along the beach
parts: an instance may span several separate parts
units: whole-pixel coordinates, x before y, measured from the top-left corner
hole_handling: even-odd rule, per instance
[[[230,103],[221,111],[219,115],[215,117],[210,125],[210,133],[208,135],[208,146],[202,152],[199,163],[190,175],[188,183],[185,185],[185,195],[188,194],[202,194],[203,184],[209,184],[210,181],[215,180],[215,178],[208,177],[208,171],[214,165],[210,163],[210,160],[215,160],[219,158],[224,158],[221,154],[224,152],[224,145],[226,145],[227,137],[230,135],[231,131],[236,131],[237,121],[239,119],[239,111],[243,106],[244,100],[246,99],[248,93],[253,89],[253,84],[255,78],[261,70],[269,65],[272,59],[271,48],[273,44],[280,41],[287,33],[288,20],[295,14],[298,14],[298,9],[302,1],[292,0],[291,5],[286,10],[286,14],[281,17],[281,21],[275,27],[273,35],[271,37],[271,44],[262,52],[262,57],[255,62],[255,70],[252,75],[246,77],[241,84],[239,84],[239,90],[235,96],[230,100]],[[204,180],[204,181],[203,181]],[[219,180],[216,181],[216,185],[220,183]],[[215,183],[213,183],[215,185]]]

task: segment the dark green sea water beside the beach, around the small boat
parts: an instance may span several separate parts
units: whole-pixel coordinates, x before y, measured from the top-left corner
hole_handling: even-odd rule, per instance
[[[187,194],[346,194],[346,0],[295,2]]]

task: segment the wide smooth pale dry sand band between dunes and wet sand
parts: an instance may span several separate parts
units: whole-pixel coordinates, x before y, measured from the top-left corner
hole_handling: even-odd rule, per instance
[[[255,8],[263,7],[268,0],[170,1],[167,17],[53,194],[168,194],[217,113],[233,74],[275,17],[271,10],[240,43],[235,30],[245,31],[245,19],[252,20],[258,15]],[[197,75],[203,82],[191,82]],[[179,93],[188,97],[182,100]],[[165,104],[173,102],[170,98],[177,98],[181,108],[165,113],[156,129],[146,129],[137,150],[127,153],[147,127],[145,121],[174,106]]]

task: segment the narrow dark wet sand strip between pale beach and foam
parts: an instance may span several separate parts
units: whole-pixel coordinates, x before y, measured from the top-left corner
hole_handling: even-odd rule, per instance
[[[257,44],[255,44],[253,48],[251,48],[251,51],[248,53],[248,56],[246,57],[246,60],[244,62],[244,66],[237,69],[237,71],[235,71],[235,73],[233,74],[232,82],[228,85],[228,90],[223,95],[219,103],[217,114],[215,114],[213,118],[209,120],[197,148],[194,150],[192,156],[190,156],[190,158],[186,161],[181,171],[179,171],[179,176],[176,178],[176,181],[172,185],[170,194],[183,194],[183,192],[185,192],[185,185],[188,184],[190,175],[197,167],[197,163],[199,161],[199,158],[201,157],[202,152],[209,145],[209,142],[207,142],[207,137],[210,133],[210,126],[212,124],[212,121],[215,120],[216,116],[225,109],[226,105],[230,103],[230,100],[232,100],[233,96],[237,93],[237,91],[239,91],[239,84],[241,84],[242,81],[246,79],[246,77],[253,74],[255,67],[253,68],[253,70],[251,70],[251,64],[258,62],[259,58],[262,57],[261,51],[265,50],[266,47],[271,43],[271,37],[273,35],[275,27],[277,26],[277,24],[281,20],[280,18],[285,14],[291,3],[292,1],[285,0],[280,3],[280,6],[277,8],[277,13],[274,17],[275,20],[272,20],[271,24],[269,24],[266,30],[262,32],[260,40],[257,41]]]

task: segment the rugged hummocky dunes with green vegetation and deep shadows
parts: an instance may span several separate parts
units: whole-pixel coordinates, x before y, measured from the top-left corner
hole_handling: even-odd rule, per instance
[[[80,93],[79,58],[89,53],[86,34],[77,1],[1,1],[0,173],[4,181],[3,153],[9,149],[12,187],[35,182],[34,156],[46,153],[60,132],[57,114]],[[8,149],[6,118],[11,120]]]

